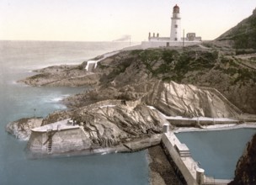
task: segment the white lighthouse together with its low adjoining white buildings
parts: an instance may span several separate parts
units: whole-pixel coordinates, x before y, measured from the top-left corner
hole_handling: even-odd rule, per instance
[[[188,46],[188,45],[200,45],[201,37],[195,36],[195,33],[188,33],[186,37],[182,35],[181,28],[181,16],[180,8],[176,4],[173,7],[171,17],[171,32],[168,37],[160,37],[159,33],[149,33],[148,41],[141,42],[141,48],[156,48],[156,47],[168,47],[168,46]]]

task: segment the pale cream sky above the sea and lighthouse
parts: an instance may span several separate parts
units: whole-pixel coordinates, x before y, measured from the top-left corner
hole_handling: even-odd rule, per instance
[[[213,40],[256,8],[256,0],[0,0],[0,40],[112,41],[169,36],[173,6],[185,33]]]

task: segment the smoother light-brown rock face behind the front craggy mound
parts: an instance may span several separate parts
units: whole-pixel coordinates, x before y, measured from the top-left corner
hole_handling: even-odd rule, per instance
[[[215,89],[176,82],[154,83],[143,100],[163,113],[174,116],[232,118],[239,114]]]

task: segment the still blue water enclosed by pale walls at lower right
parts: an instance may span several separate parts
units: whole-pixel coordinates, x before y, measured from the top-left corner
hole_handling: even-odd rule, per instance
[[[183,132],[177,135],[195,161],[210,177],[232,179],[237,161],[256,129],[229,129],[207,132]]]

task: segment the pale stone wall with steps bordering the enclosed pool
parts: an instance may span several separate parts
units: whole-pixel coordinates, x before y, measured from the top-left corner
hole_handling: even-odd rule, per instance
[[[210,131],[210,130],[225,130],[225,129],[241,129],[250,128],[256,129],[255,123],[245,124],[219,124],[205,126],[205,129],[198,128],[180,128],[176,132],[191,132],[191,131]],[[198,162],[189,155],[189,149],[186,145],[180,143],[173,131],[164,133],[162,136],[162,145],[166,152],[169,161],[175,166],[176,172],[184,182],[189,185],[199,184],[197,179],[197,171],[200,169]],[[184,151],[183,151],[184,150]],[[185,155],[184,155],[185,154]],[[211,160],[211,159],[210,159]],[[201,184],[228,184],[231,179],[215,179],[214,177],[207,177],[203,175],[203,182]]]

